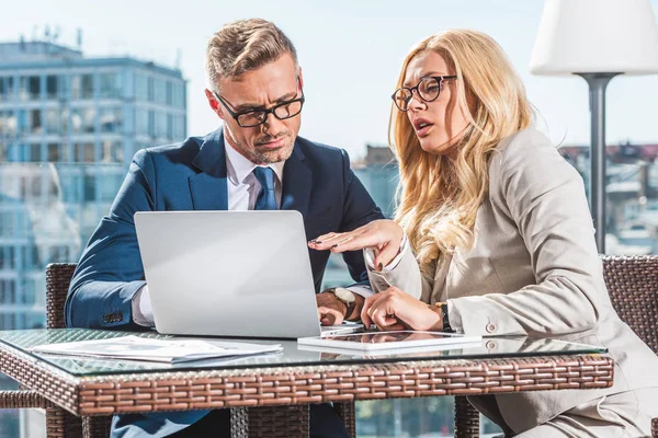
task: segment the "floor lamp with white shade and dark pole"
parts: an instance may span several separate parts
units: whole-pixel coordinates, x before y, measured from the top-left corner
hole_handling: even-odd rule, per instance
[[[658,72],[658,26],[651,3],[545,0],[530,71],[578,74],[589,84],[590,208],[597,247],[605,253],[605,88],[617,74]]]

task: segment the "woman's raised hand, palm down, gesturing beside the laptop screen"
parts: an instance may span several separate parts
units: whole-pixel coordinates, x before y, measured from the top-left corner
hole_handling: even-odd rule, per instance
[[[313,250],[330,250],[332,253],[370,247],[375,252],[375,269],[382,270],[400,251],[405,231],[390,219],[373,220],[363,227],[344,233],[328,233],[308,242]]]

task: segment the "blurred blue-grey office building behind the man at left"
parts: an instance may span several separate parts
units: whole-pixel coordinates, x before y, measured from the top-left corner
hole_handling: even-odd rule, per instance
[[[185,125],[178,69],[0,44],[0,330],[45,324],[45,265],[77,261],[133,154]]]

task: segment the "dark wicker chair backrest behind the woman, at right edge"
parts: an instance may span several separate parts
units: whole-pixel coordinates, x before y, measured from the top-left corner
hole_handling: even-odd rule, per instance
[[[603,255],[601,258],[614,310],[658,354],[658,256]]]

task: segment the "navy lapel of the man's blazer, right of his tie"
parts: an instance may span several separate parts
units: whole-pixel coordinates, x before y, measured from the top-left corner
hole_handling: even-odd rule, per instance
[[[303,217],[308,212],[313,176],[304,163],[304,153],[295,142],[293,154],[283,168],[282,210],[297,210]]]

